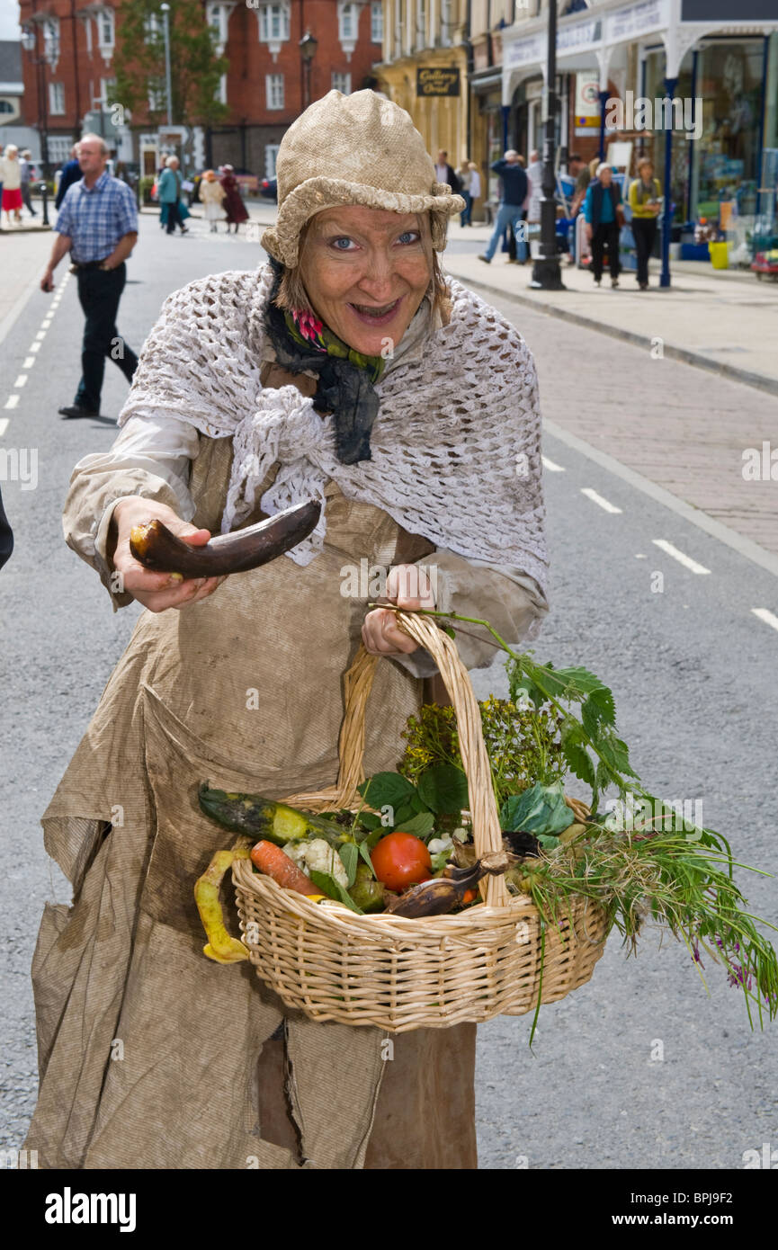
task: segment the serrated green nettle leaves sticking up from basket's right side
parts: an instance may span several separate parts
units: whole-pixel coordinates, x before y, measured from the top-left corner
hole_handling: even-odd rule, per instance
[[[608,686],[588,669],[555,669],[527,655],[509,659],[505,669],[512,699],[530,700],[537,708],[550,701],[564,714],[562,752],[570,772],[592,788],[592,808],[609,785],[624,792],[625,779],[637,778],[637,772],[629,764],[627,742],[617,735]],[[560,704],[578,704],[580,718]]]

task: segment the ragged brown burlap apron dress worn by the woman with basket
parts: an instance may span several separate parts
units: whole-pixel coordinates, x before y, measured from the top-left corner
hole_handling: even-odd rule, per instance
[[[194,521],[218,531],[230,442],[201,444]],[[283,556],[141,615],[43,818],[74,905],[46,905],[33,962],[40,1094],[25,1145],[41,1168],[477,1166],[474,1025],[389,1048],[376,1029],[288,1011],[248,962],[203,955],[193,885],[233,835],[196,786],[283,798],[335,779],[365,612],[341,594],[344,566],[432,550],[334,482],[328,495],[308,566]],[[420,696],[379,665],[368,772],[397,766]]]

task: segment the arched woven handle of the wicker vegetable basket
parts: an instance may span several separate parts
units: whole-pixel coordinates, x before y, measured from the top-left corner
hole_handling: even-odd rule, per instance
[[[459,659],[457,644],[428,616],[398,611],[397,621],[400,629],[415,639],[420,646],[427,648],[438,665],[454,706],[459,750],[470,795],[475,854],[480,858],[490,851],[502,851],[503,832],[492,788],[492,770],[484,745],[480,709],[468,670]],[[364,781],[365,776],[363,766],[365,706],[375,676],[376,662],[378,656],[370,655],[360,645],[344,679],[345,715],[338,742],[340,769],[336,786],[339,805],[344,808],[354,802],[356,786]],[[502,876],[487,878],[485,885],[485,902],[489,906],[508,905],[510,896]]]

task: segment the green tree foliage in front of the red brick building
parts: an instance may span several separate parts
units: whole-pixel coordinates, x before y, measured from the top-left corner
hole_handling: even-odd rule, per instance
[[[199,0],[174,0],[170,22],[170,86],[173,124],[214,125],[229,109],[216,100],[229,60],[216,52],[216,32],[205,21]],[[158,0],[123,0],[116,11],[116,100],[126,109],[148,111],[153,122],[166,120],[165,39]],[[159,108],[150,108],[154,99]]]

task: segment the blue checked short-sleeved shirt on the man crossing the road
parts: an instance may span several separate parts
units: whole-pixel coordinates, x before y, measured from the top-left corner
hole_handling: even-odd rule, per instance
[[[138,231],[135,196],[108,170],[91,189],[80,179],[68,188],[54,229],[73,240],[75,261],[105,260],[125,234]]]

